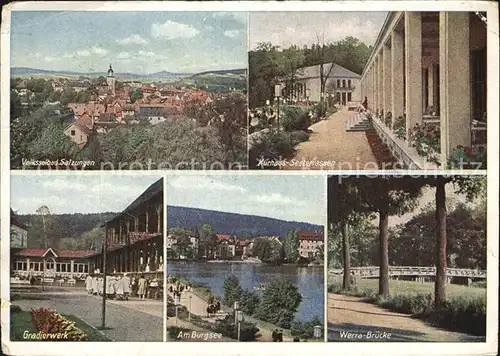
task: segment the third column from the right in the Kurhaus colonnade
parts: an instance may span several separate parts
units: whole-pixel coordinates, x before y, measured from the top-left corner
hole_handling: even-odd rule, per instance
[[[391,33],[391,111],[393,119],[404,113],[404,52],[403,34]]]

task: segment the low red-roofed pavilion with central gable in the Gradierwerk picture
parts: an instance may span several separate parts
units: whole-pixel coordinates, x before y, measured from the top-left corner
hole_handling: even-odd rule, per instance
[[[89,273],[89,257],[94,250],[56,250],[52,248],[25,248],[12,252],[11,275],[28,279],[44,278],[84,279]]]

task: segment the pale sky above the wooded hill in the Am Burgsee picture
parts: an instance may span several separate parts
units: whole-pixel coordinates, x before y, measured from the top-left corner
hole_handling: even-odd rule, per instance
[[[324,190],[322,176],[173,176],[166,196],[167,205],[324,225]]]

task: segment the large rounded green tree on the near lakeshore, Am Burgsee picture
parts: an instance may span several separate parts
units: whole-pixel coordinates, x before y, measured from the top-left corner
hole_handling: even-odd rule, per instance
[[[273,280],[264,291],[256,317],[289,329],[301,302],[302,295],[290,280]]]

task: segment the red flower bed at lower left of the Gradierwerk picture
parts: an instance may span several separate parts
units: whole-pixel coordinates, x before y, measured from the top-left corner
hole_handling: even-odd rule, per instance
[[[88,336],[75,326],[74,321],[66,319],[55,310],[32,309],[31,318],[38,332],[47,334],[48,339],[84,341]],[[60,335],[61,337],[58,337]]]

